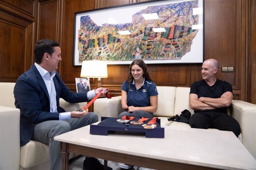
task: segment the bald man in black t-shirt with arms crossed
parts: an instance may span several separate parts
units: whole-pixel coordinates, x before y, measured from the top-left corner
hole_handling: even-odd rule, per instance
[[[203,80],[194,82],[190,87],[189,105],[194,109],[194,114],[189,124],[191,128],[232,131],[238,136],[239,123],[226,112],[233,99],[232,86],[216,78],[218,69],[219,62],[216,59],[203,62]]]

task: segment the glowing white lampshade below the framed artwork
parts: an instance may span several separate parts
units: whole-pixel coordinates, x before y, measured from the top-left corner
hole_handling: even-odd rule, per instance
[[[108,78],[108,69],[106,61],[83,61],[80,76],[86,78]]]

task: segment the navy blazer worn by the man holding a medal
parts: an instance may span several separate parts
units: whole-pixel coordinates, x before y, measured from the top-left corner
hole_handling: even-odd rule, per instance
[[[28,71],[17,79],[13,93],[15,106],[20,109],[20,146],[24,146],[29,142],[36,124],[47,120],[59,120],[59,113],[65,112],[59,106],[59,98],[63,98],[69,103],[88,101],[87,93],[70,91],[57,72],[53,81],[56,89],[58,110],[56,113],[50,112],[49,94],[45,82],[35,65],[32,65]]]

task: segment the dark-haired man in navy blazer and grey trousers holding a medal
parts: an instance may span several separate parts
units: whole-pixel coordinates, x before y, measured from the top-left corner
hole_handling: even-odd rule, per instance
[[[73,93],[55,71],[61,58],[59,44],[40,40],[35,45],[35,64],[17,79],[14,86],[15,106],[20,109],[20,146],[29,140],[49,144],[50,169],[61,170],[60,142],[53,138],[62,133],[95,123],[95,113],[65,112],[59,98],[70,103],[86,102],[97,93],[108,90],[98,88],[86,93]],[[104,169],[95,158],[86,158],[85,169]],[[91,166],[91,167],[88,167]],[[110,168],[111,169],[111,168]]]

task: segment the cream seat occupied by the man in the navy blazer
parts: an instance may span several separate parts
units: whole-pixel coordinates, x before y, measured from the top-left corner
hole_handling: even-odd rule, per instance
[[[48,170],[48,145],[30,140],[20,147],[20,110],[14,106],[14,85],[0,82],[0,170]],[[60,99],[60,106],[66,111],[77,110],[86,104]],[[70,153],[69,158],[73,156]]]

